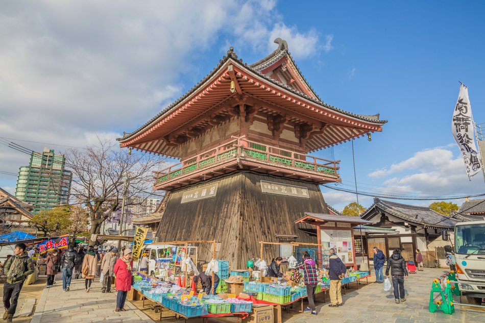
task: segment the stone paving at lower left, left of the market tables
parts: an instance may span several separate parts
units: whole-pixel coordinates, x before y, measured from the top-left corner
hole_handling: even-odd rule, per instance
[[[62,280],[52,288],[44,288],[31,323],[153,323],[129,301],[126,312],[115,312],[116,292],[102,293],[101,283],[94,280],[86,293],[84,279],[72,280],[70,291],[62,291]]]

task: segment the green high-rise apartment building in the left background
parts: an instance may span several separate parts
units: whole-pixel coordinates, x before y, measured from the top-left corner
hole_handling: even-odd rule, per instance
[[[67,204],[72,173],[64,166],[64,155],[56,155],[52,149],[33,152],[30,165],[21,166],[18,171],[15,197],[32,204],[34,214]]]

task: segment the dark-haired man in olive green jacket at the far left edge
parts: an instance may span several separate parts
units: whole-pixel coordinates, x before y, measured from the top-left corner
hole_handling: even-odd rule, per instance
[[[25,243],[17,243],[14,249],[14,256],[10,257],[4,264],[4,272],[7,279],[4,283],[4,319],[11,322],[17,309],[18,296],[22,289],[23,282],[34,272],[34,263],[25,250]]]

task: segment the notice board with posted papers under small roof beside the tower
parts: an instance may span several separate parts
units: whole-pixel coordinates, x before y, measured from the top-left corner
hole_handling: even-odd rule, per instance
[[[335,249],[337,256],[344,264],[354,264],[354,244],[352,229],[346,230],[321,229],[322,245]]]

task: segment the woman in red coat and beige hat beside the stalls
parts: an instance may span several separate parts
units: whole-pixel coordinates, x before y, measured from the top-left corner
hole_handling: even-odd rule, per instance
[[[128,291],[131,289],[131,270],[133,260],[131,260],[131,250],[125,249],[123,256],[119,257],[114,264],[113,272],[116,277],[116,312],[126,311],[125,301]]]

